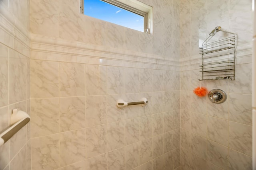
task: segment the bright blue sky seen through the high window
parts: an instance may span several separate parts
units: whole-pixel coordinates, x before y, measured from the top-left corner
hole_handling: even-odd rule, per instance
[[[84,14],[144,32],[144,17],[101,0],[84,0]]]

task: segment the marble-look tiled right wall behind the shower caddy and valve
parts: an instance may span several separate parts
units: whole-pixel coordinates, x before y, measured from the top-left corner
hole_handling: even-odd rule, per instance
[[[252,1],[180,3],[181,166],[188,170],[252,169]],[[199,49],[216,26],[237,33],[235,79],[202,81],[227,94],[223,104],[199,98]],[[217,35],[220,33],[217,33]]]

